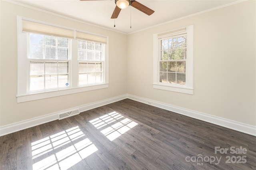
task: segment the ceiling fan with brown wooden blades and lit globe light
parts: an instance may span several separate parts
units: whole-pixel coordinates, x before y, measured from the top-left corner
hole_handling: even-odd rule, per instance
[[[81,1],[89,1],[89,0],[81,0]],[[128,6],[132,6],[147,15],[151,15],[154,13],[153,10],[144,6],[143,4],[140,4],[140,2],[137,2],[136,0],[115,0],[115,3],[116,3],[116,8],[114,9],[114,12],[111,16],[112,19],[117,18],[121,9],[125,9]]]

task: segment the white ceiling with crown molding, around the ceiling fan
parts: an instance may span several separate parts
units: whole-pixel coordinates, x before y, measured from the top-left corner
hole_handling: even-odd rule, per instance
[[[116,6],[114,0],[10,0],[46,10],[86,23],[108,28],[124,34],[130,34],[164,22],[212,8],[240,2],[238,0],[137,0],[155,12],[148,16],[129,6],[121,10],[117,19],[110,19]],[[132,16],[130,16],[130,14]],[[130,28],[130,18],[132,28]],[[116,27],[114,27],[114,22]]]

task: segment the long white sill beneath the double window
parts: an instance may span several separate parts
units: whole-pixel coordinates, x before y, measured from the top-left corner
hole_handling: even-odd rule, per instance
[[[108,83],[100,84],[100,85],[90,85],[85,87],[77,87],[72,89],[60,89],[60,90],[54,90],[54,91],[31,93],[26,95],[16,95],[16,97],[17,97],[17,103],[22,103],[26,101],[34,101],[39,99],[46,99],[50,97],[57,97],[62,95],[69,95],[73,93],[80,93],[84,91],[91,91],[91,90],[104,89],[104,88],[108,88]]]

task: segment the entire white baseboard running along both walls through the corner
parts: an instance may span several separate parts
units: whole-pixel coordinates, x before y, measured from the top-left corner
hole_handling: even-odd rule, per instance
[[[120,100],[127,99],[127,98],[132,99],[134,101],[141,102],[141,103],[145,103],[145,104],[148,104],[148,105],[152,105],[152,106],[155,106],[155,107],[158,107],[158,108],[161,108],[161,109],[165,109],[165,110],[168,110],[168,111],[179,113],[181,115],[185,115],[185,116],[188,116],[188,117],[199,119],[199,120],[202,120],[202,121],[205,121],[205,122],[208,122],[208,123],[212,123],[212,124],[215,124],[215,125],[220,125],[222,127],[230,128],[230,129],[233,129],[233,130],[237,130],[237,131],[240,131],[240,132],[244,132],[246,134],[251,134],[253,136],[256,136],[256,127],[254,127],[252,125],[246,125],[244,123],[239,123],[239,122],[224,119],[224,118],[221,118],[221,117],[208,115],[206,113],[200,113],[200,112],[197,112],[197,111],[192,111],[190,109],[185,109],[185,108],[182,108],[182,107],[177,107],[177,106],[169,105],[169,104],[166,104],[166,103],[161,103],[161,102],[158,102],[158,101],[154,101],[154,100],[150,100],[150,99],[146,99],[146,98],[142,98],[142,97],[138,97],[138,96],[134,96],[134,95],[129,95],[129,94],[121,95],[121,96],[118,96],[118,97],[113,97],[113,98],[110,98],[110,99],[106,99],[106,100],[102,100],[102,101],[98,101],[98,102],[94,102],[94,103],[89,103],[89,104],[82,105],[82,106],[79,106],[79,107],[70,108],[68,110],[63,110],[63,111],[59,111],[59,112],[56,112],[56,113],[51,113],[51,114],[48,114],[48,115],[44,115],[44,116],[41,116],[41,117],[36,117],[36,118],[33,118],[33,119],[29,119],[29,120],[26,120],[26,121],[21,121],[21,122],[18,122],[18,123],[13,123],[13,124],[10,124],[10,125],[2,126],[2,127],[0,127],[0,136],[10,134],[12,132],[17,132],[19,130],[23,130],[23,129],[26,129],[26,128],[34,127],[34,126],[37,126],[37,125],[41,125],[43,123],[47,123],[47,122],[50,122],[50,121],[58,120],[59,115],[63,114],[63,113],[68,113],[68,112],[71,112],[71,111],[74,111],[74,110],[79,110],[79,113],[81,113],[81,112],[84,112],[84,111],[88,111],[90,109],[94,109],[96,107],[100,107],[100,106],[103,106],[103,105],[114,103],[116,101],[120,101]]]

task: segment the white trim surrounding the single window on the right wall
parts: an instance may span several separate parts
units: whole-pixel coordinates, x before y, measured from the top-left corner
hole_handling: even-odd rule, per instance
[[[187,33],[187,61],[186,61],[186,85],[179,84],[170,84],[170,83],[161,83],[159,82],[159,35],[167,36],[168,32],[162,32],[153,35],[153,88],[166,90],[166,91],[174,91],[178,93],[186,93],[193,95],[193,26],[187,26],[186,30],[180,32],[181,29],[168,31],[170,32],[170,36],[177,34]]]

